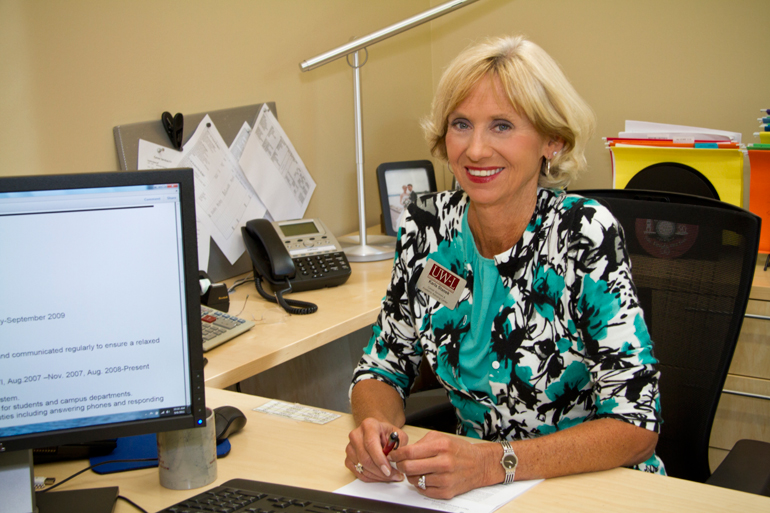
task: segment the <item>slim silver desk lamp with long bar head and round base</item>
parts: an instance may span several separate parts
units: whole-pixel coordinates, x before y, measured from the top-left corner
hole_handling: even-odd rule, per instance
[[[373,262],[377,260],[392,259],[395,254],[395,239],[382,235],[366,235],[366,208],[364,198],[364,135],[361,123],[361,67],[366,64],[366,59],[359,62],[358,52],[367,51],[366,48],[389,37],[406,32],[450,13],[477,0],[451,0],[425,12],[394,23],[384,29],[372,32],[369,35],[359,37],[353,41],[338,46],[333,50],[322,53],[300,63],[302,71],[310,71],[324,64],[346,57],[348,65],[353,68],[353,100],[355,108],[355,137],[356,137],[356,177],[358,180],[358,235],[340,237],[338,240],[345,250],[348,260],[352,262]],[[353,54],[353,63],[350,63],[350,55]],[[368,51],[366,53],[368,57]],[[369,244],[371,242],[371,244]]]

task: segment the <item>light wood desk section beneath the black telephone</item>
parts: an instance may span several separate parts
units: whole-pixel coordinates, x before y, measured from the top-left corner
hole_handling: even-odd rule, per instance
[[[318,311],[311,315],[288,316],[260,297],[253,283],[238,287],[230,295],[230,313],[257,325],[206,353],[206,386],[228,387],[372,324],[390,282],[393,262],[352,263],[350,267],[350,278],[339,287],[288,296],[317,304]],[[227,285],[234,281],[228,280]]]

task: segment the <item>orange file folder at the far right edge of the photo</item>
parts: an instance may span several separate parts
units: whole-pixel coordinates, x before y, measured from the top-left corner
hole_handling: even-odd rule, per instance
[[[763,130],[767,130],[770,126],[770,109],[762,109],[762,113],[764,116],[759,118],[759,122]],[[751,165],[749,210],[762,218],[759,251],[770,253],[770,131],[754,135],[759,136],[761,142],[747,146]]]

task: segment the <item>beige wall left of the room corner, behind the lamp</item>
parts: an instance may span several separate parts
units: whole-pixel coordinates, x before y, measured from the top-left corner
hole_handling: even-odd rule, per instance
[[[0,175],[118,169],[112,128],[275,101],[318,187],[308,216],[357,229],[353,78],[299,63],[428,9],[428,0],[0,0]],[[430,27],[373,48],[362,69],[368,212],[374,170],[426,158]]]

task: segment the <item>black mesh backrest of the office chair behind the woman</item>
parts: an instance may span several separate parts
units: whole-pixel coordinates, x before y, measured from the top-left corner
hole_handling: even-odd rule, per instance
[[[760,219],[698,196],[571,192],[603,203],[623,226],[660,362],[663,425],[656,451],[670,476],[704,482],[711,474],[711,426],[754,277]]]

